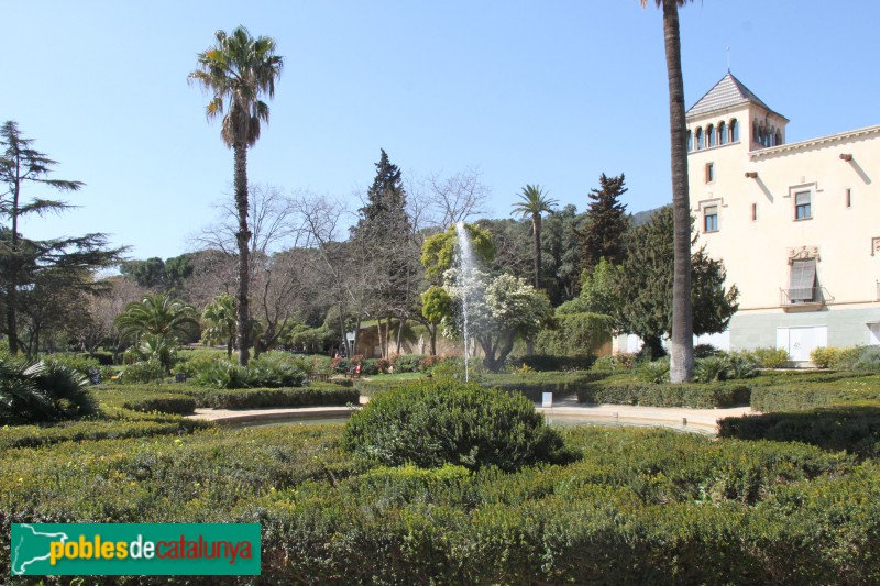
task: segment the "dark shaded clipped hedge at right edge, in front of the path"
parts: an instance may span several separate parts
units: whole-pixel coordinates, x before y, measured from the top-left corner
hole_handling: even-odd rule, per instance
[[[730,417],[719,423],[722,438],[803,442],[880,457],[880,407],[829,407],[811,411]]]

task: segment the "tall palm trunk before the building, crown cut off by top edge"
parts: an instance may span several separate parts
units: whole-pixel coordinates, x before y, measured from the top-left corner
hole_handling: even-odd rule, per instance
[[[669,78],[669,130],[672,155],[672,213],[675,265],[672,280],[672,339],[669,379],[685,383],[694,371],[694,324],[691,309],[691,201],[688,186],[688,123],[681,71],[679,7],[692,0],[653,0],[663,8],[667,77]],[[647,5],[649,0],[641,0]]]

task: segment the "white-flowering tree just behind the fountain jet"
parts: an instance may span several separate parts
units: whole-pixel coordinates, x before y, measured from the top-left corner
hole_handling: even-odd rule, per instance
[[[449,316],[447,329],[461,333],[462,303],[468,301],[469,334],[483,350],[483,366],[493,373],[504,365],[517,338],[534,339],[553,314],[547,296],[512,275],[488,278],[475,270],[468,283],[457,285],[457,272],[448,270],[444,287],[454,301],[455,319]]]

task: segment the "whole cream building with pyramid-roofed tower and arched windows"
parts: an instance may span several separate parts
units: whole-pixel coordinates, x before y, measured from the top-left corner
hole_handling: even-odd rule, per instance
[[[697,245],[727,268],[732,350],[880,344],[880,126],[787,143],[729,73],[688,111]]]

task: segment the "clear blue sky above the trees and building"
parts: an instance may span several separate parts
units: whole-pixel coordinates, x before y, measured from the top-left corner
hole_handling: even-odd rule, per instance
[[[276,40],[285,69],[252,183],[348,199],[380,148],[407,176],[479,166],[490,214],[526,184],[586,207],[626,173],[630,211],[671,199],[660,11],[638,0],[77,2],[3,0],[0,120],[85,181],[31,237],[107,232],[176,256],[231,197],[232,154],[187,84],[218,29]],[[880,123],[868,0],[706,0],[681,11],[688,106],[732,70],[788,140]],[[31,190],[31,195],[37,195]],[[47,196],[48,194],[38,194]]]

